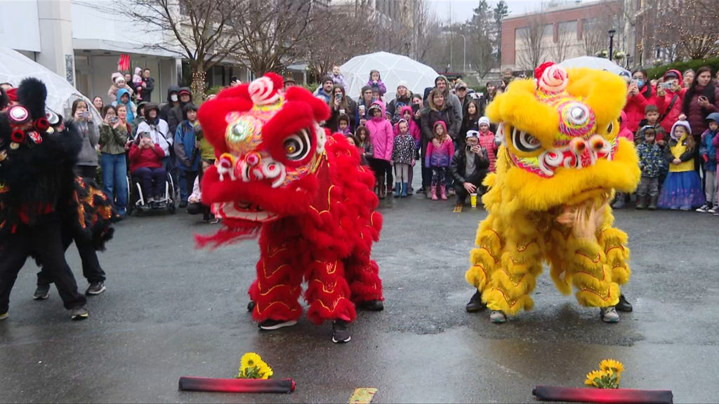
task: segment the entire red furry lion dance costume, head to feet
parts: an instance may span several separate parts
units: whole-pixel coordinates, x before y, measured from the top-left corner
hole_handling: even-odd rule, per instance
[[[249,288],[252,318],[262,329],[296,323],[301,283],[308,318],[333,321],[333,341],[349,341],[355,306],[383,309],[382,281],[370,259],[382,216],[375,178],[359,152],[319,122],[329,108],[301,87],[283,93],[267,73],[221,91],[198,119],[217,157],[202,180],[203,203],[224,224],[198,245],[260,234],[257,280]]]

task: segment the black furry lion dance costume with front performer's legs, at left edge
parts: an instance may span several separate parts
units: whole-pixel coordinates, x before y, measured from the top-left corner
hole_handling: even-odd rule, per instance
[[[27,78],[17,104],[0,113],[0,319],[8,316],[27,257],[42,265],[73,319],[87,318],[86,298],[65,262],[63,232],[96,249],[113,233],[108,198],[73,174],[81,138],[72,123],[46,111],[46,96],[41,81]]]

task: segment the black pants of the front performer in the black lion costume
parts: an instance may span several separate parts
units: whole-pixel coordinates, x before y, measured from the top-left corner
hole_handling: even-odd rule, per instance
[[[0,313],[7,311],[17,273],[31,253],[42,262],[44,270],[55,282],[65,308],[85,306],[85,296],[78,293],[73,272],[70,272],[65,262],[60,219],[56,214],[50,214],[36,226],[18,226],[17,231],[7,237],[1,247]]]

